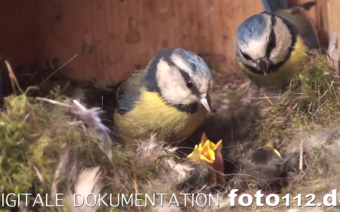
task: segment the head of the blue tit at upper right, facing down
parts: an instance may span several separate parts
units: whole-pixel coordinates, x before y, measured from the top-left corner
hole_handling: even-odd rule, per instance
[[[237,55],[257,74],[267,75],[291,51],[292,26],[282,17],[261,13],[242,22],[237,30]]]

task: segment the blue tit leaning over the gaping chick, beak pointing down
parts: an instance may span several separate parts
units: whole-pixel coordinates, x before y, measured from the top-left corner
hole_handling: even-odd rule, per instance
[[[123,81],[114,113],[118,136],[177,142],[190,136],[211,112],[212,76],[198,55],[181,48],[160,50],[145,69]]]

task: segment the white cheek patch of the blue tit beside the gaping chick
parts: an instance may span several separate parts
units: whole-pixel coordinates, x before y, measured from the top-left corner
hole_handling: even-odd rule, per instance
[[[161,59],[157,64],[156,79],[162,97],[173,104],[192,103],[194,97],[181,73]]]

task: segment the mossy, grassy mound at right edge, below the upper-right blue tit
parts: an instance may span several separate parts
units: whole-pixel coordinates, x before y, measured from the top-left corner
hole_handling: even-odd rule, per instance
[[[277,100],[268,116],[260,120],[259,136],[287,135],[291,129],[317,130],[330,127],[340,118],[339,77],[330,68],[327,57],[316,51],[310,61]]]

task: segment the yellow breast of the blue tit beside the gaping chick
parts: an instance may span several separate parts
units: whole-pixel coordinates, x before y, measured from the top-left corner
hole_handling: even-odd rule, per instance
[[[198,128],[206,114],[203,107],[193,114],[179,111],[158,93],[143,90],[135,108],[124,115],[117,114],[115,122],[133,137],[156,132],[164,138],[182,139]]]

